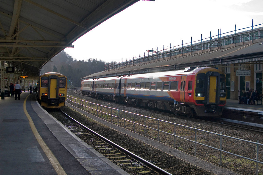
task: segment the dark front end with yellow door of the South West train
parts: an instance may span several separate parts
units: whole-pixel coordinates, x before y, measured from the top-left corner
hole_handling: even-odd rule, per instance
[[[196,105],[191,107],[198,116],[222,116],[226,103],[225,81],[223,73],[208,71],[197,74],[194,93]]]

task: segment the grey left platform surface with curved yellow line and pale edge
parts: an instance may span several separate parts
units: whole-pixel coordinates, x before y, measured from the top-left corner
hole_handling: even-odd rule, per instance
[[[0,174],[128,174],[59,124],[35,96],[0,100]]]

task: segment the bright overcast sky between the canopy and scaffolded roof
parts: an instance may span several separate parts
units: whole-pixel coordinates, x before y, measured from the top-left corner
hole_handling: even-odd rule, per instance
[[[66,48],[73,59],[110,63],[263,23],[263,0],[139,1]],[[263,25],[257,26],[263,27]],[[256,28],[256,27],[254,27]],[[251,28],[249,28],[251,29]],[[248,30],[248,29],[247,29]]]

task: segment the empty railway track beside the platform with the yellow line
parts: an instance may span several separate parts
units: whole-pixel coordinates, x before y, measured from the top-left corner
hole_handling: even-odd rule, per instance
[[[107,157],[126,172],[130,174],[144,175],[171,175],[163,169],[92,131],[90,128],[70,117],[63,111],[55,113],[53,112],[52,115],[61,123],[63,123],[72,133],[74,133],[76,136],[78,136],[80,139],[96,149],[96,151]]]

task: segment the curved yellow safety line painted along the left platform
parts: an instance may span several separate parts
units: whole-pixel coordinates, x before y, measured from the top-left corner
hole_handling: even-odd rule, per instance
[[[29,95],[28,95],[29,96]],[[32,118],[30,117],[30,115],[27,112],[26,109],[26,101],[27,98],[26,97],[25,101],[24,101],[24,113],[26,114],[28,120],[29,120],[29,125],[39,143],[39,145],[41,146],[41,148],[43,149],[44,153],[47,155],[47,157],[49,158],[49,161],[51,162],[52,166],[54,167],[55,171],[59,174],[59,175],[66,175],[66,172],[64,171],[64,169],[61,167],[61,165],[59,164],[59,161],[57,160],[57,158],[54,156],[54,154],[51,152],[51,150],[49,149],[49,147],[46,145],[46,143],[44,142],[44,140],[41,138],[41,136],[39,135],[34,122],[32,121]]]

